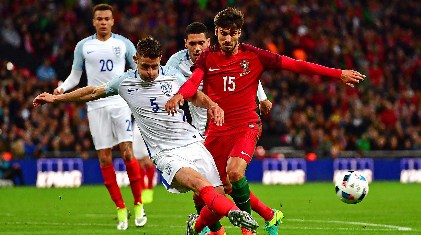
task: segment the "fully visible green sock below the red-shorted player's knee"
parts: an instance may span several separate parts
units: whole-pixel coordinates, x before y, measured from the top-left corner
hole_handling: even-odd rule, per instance
[[[250,188],[245,176],[241,180],[230,182],[232,184],[232,199],[234,199],[235,205],[240,210],[247,211],[251,215]]]

